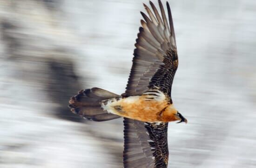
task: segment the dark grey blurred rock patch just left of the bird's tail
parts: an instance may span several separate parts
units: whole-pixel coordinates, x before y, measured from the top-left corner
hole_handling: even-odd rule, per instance
[[[67,100],[70,99],[70,95],[76,93],[78,88],[83,88],[78,80],[78,76],[74,73],[72,61],[64,59],[47,60],[47,65],[49,75],[47,93],[49,100],[59,105],[54,110],[55,115],[72,121],[86,121],[67,109]]]

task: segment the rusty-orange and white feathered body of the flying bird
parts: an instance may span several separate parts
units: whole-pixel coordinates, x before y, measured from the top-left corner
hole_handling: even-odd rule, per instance
[[[177,110],[158,89],[140,96],[117,97],[102,101],[101,107],[109,113],[144,122],[175,121]]]

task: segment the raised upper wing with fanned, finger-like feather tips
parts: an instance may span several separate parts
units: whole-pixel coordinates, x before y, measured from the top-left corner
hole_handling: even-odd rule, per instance
[[[178,56],[170,6],[167,2],[167,20],[160,0],[162,18],[151,1],[150,5],[154,14],[144,4],[149,18],[141,12],[145,21],[141,20],[142,27],[136,39],[133,65],[124,96],[141,95],[148,88],[155,86],[171,97],[171,86],[178,67]]]

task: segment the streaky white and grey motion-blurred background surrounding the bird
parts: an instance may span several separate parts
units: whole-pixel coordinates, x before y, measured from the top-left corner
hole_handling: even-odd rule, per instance
[[[0,0],[0,168],[122,167],[122,119],[67,104],[85,88],[125,91],[142,2]],[[172,98],[189,123],[169,125],[169,167],[255,168],[256,1],[170,5]]]

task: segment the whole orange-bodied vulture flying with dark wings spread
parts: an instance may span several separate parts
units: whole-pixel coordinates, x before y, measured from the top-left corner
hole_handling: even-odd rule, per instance
[[[124,118],[124,168],[167,168],[168,122],[187,123],[173,105],[171,87],[178,55],[170,6],[166,16],[149,1],[141,12],[133,65],[125,93],[94,87],[81,90],[69,101],[71,111],[94,121]]]

